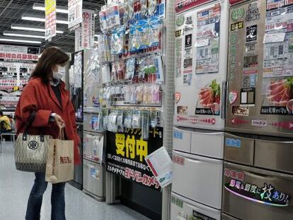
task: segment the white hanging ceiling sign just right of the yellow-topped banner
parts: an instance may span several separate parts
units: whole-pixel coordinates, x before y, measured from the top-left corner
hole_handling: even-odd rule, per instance
[[[82,22],[82,0],[68,1],[68,28]]]

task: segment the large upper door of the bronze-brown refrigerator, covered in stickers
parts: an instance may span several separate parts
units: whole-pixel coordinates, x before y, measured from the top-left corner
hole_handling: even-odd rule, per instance
[[[226,116],[230,132],[292,137],[293,10],[289,4],[251,0],[231,6]]]

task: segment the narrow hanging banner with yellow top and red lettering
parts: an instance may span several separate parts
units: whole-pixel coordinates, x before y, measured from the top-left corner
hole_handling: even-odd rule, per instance
[[[56,36],[56,0],[45,0],[45,40]]]

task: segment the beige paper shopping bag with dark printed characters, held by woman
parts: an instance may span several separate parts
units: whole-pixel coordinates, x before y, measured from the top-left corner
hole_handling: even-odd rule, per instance
[[[74,179],[74,141],[64,140],[64,129],[59,138],[52,139],[47,152],[46,182],[65,183]]]

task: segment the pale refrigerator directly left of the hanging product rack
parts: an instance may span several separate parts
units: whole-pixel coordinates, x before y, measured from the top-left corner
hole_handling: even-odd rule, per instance
[[[84,192],[105,200],[104,132],[101,127],[100,64],[97,50],[84,50]]]

